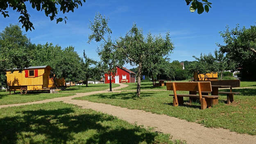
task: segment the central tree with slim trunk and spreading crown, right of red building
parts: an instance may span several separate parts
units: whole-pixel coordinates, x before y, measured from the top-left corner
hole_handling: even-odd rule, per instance
[[[148,68],[149,61],[152,58],[163,57],[173,50],[173,44],[170,41],[169,33],[165,38],[162,36],[152,36],[148,33],[147,38],[144,37],[143,31],[139,30],[134,24],[125,37],[120,37],[117,41],[118,48],[125,54],[125,61],[130,65],[138,65],[137,77],[137,96],[140,97],[140,85],[142,76],[142,66]]]

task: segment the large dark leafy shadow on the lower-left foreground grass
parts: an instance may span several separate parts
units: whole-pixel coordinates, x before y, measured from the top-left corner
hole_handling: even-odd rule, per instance
[[[0,119],[0,143],[120,143],[137,144],[152,143],[156,133],[149,133],[139,127],[123,128],[121,126],[106,126],[116,118],[100,114],[74,115],[71,108],[57,110],[29,110],[17,113],[18,116]],[[99,122],[104,122],[104,125]],[[96,133],[90,131],[96,130]],[[81,133],[86,137],[81,137]],[[74,137],[79,133],[81,138]],[[139,134],[140,133],[140,134]],[[45,138],[42,138],[41,136]],[[39,138],[37,138],[39,136]],[[41,137],[41,138],[40,138]],[[87,142],[82,138],[87,138]]]

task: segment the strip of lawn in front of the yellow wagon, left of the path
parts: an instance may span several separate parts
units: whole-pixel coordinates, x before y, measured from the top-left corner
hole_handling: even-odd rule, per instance
[[[19,91],[10,95],[9,92],[0,91],[0,105],[27,103],[32,101],[41,101],[44,99],[52,99],[55,97],[67,97],[74,94],[50,94],[45,92],[28,92],[27,94],[20,94]],[[1,142],[0,142],[1,143]]]

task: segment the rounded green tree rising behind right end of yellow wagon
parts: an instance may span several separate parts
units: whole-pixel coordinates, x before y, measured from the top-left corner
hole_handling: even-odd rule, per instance
[[[31,52],[31,64],[34,66],[50,65],[55,84],[57,84],[56,79],[64,78],[65,81],[76,82],[81,78],[81,58],[71,46],[62,49],[58,45],[53,46],[52,43],[34,45]]]

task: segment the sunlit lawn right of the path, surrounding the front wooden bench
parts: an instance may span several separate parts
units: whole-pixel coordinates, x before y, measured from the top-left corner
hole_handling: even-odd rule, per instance
[[[197,122],[206,127],[221,127],[237,133],[256,135],[256,89],[236,89],[233,91],[240,92],[239,95],[234,96],[234,103],[225,104],[224,101],[227,96],[220,95],[219,104],[206,110],[200,110],[199,103],[172,106],[172,97],[168,96],[173,94],[172,91],[143,91],[140,98],[135,97],[136,92],[121,92],[95,94],[75,99],[145,110]],[[179,91],[178,93],[186,92]],[[188,98],[184,98],[184,100],[188,102]]]

